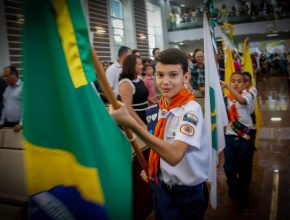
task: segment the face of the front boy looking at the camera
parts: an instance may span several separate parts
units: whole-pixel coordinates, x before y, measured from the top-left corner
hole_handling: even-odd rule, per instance
[[[188,82],[190,73],[183,74],[180,64],[163,64],[157,62],[156,84],[166,101],[170,101]]]

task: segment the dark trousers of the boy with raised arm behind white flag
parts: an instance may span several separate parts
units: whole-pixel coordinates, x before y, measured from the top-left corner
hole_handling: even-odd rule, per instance
[[[253,142],[234,135],[226,135],[224,170],[230,199],[237,198],[239,208],[245,208],[251,182]]]

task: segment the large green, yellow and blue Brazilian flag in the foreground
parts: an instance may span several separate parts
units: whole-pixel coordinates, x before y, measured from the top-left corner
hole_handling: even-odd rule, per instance
[[[131,219],[131,146],[91,85],[96,77],[80,1],[25,0],[24,12],[30,217]]]

